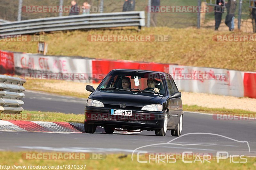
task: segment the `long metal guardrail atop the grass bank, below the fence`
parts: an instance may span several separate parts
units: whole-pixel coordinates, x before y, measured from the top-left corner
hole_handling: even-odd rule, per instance
[[[138,26],[140,29],[141,26],[145,26],[145,12],[131,11],[84,14],[9,22],[0,25],[0,35],[120,26]]]

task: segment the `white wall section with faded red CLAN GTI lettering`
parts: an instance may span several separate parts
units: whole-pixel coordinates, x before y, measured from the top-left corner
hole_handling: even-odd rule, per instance
[[[92,59],[14,53],[16,74],[31,79],[90,81]]]

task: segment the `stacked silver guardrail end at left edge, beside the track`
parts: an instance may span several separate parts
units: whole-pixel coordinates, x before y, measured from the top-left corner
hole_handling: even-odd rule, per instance
[[[0,113],[20,113],[24,102],[22,86],[26,80],[18,77],[0,75]]]

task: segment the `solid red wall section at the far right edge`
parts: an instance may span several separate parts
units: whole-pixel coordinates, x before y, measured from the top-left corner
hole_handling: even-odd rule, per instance
[[[244,97],[256,98],[256,73],[244,73]]]

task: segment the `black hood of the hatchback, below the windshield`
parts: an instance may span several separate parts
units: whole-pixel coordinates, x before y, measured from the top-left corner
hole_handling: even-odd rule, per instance
[[[157,104],[164,96],[155,95],[147,92],[125,92],[125,91],[106,91],[97,90],[94,92],[92,99],[99,100],[103,104],[127,106],[145,106]]]

